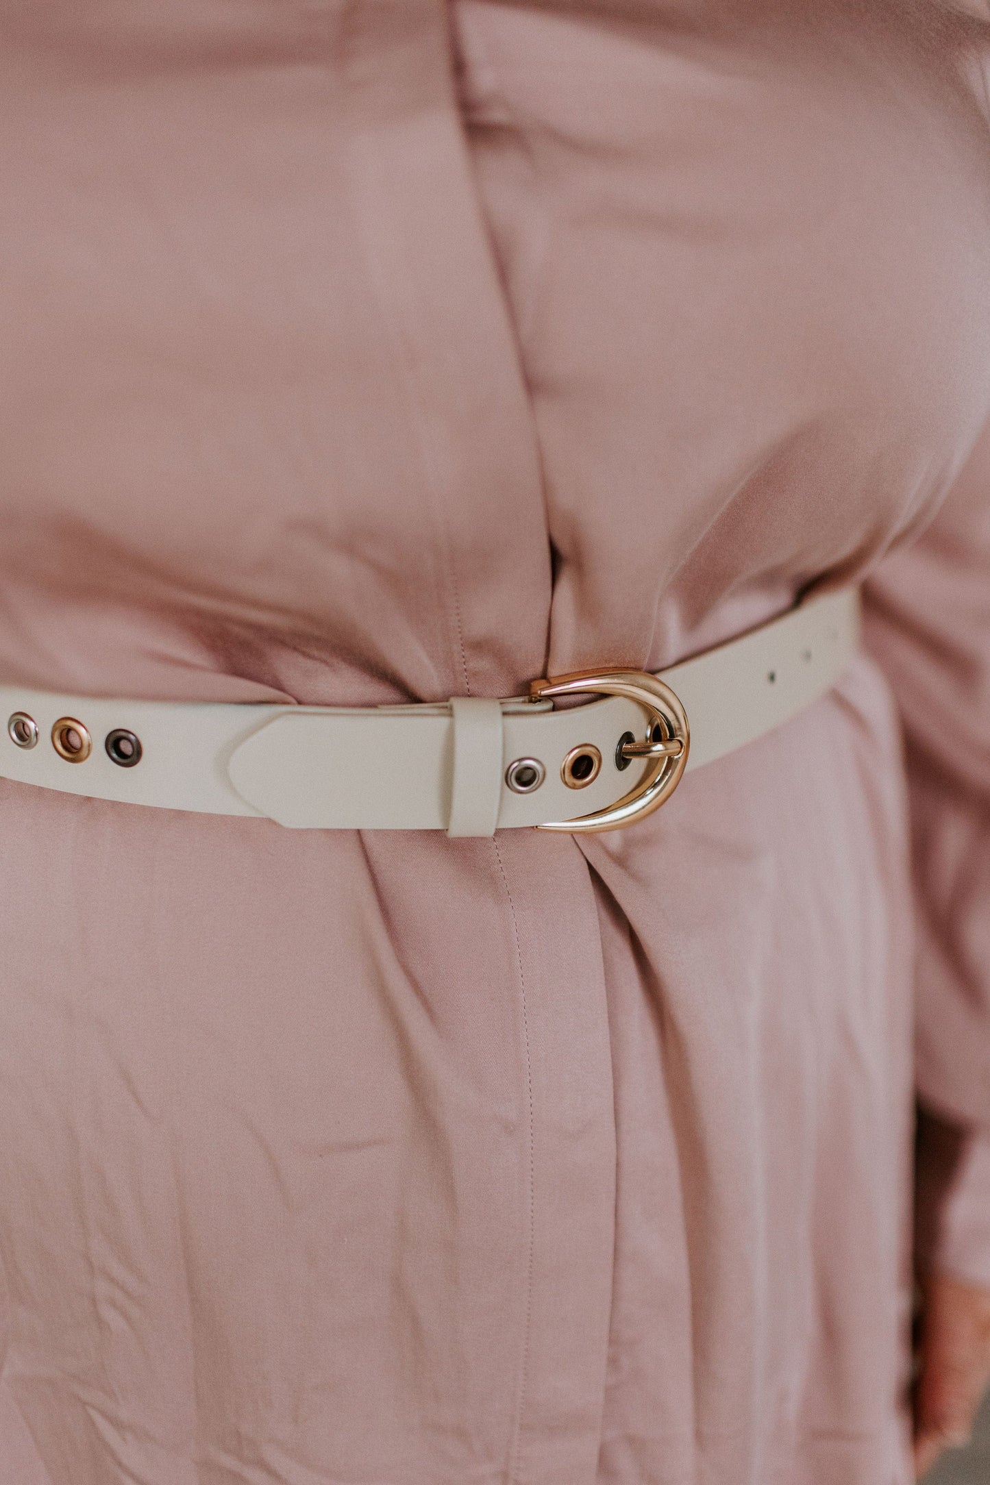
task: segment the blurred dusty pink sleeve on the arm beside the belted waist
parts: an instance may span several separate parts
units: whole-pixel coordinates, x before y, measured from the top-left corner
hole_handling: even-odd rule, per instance
[[[922,1247],[990,1287],[990,428],[935,523],[867,585],[867,644],[898,695],[917,894]],[[951,1145],[951,1158],[950,1158]]]

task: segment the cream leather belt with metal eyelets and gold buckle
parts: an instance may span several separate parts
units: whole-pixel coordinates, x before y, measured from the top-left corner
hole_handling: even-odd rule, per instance
[[[603,670],[530,698],[373,708],[104,701],[0,688],[0,775],[94,799],[349,830],[604,830],[828,691],[859,598],[812,598],[659,676]],[[598,695],[554,710],[554,696]]]

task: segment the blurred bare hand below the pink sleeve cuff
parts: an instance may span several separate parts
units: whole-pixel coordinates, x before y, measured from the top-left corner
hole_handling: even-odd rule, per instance
[[[914,1394],[919,1479],[943,1449],[969,1439],[990,1384],[990,1290],[931,1274],[922,1282],[920,1374]]]

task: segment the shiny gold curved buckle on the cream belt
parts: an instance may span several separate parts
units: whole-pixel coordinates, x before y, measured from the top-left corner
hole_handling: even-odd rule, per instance
[[[623,757],[653,759],[643,778],[609,809],[598,809],[577,820],[554,820],[537,826],[537,830],[570,830],[585,835],[595,830],[620,830],[637,820],[644,820],[671,797],[680,784],[690,731],[687,713],[671,688],[644,670],[579,670],[570,676],[552,676],[548,680],[530,682],[530,696],[545,701],[549,696],[574,696],[594,692],[603,696],[625,696],[635,701],[647,714],[646,737],[641,742],[620,744]],[[658,737],[659,734],[659,737]]]

